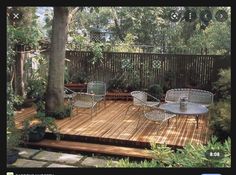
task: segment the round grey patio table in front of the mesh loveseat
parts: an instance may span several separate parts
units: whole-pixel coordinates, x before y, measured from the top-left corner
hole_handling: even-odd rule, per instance
[[[197,128],[198,128],[198,116],[206,114],[208,112],[208,109],[205,106],[191,102],[188,102],[187,108],[185,110],[180,109],[179,103],[164,103],[161,104],[159,108],[176,115],[187,115],[187,116],[194,115],[197,120]]]

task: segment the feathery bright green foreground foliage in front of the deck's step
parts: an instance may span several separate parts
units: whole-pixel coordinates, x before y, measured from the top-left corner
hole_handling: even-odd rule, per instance
[[[231,167],[231,139],[228,138],[222,144],[212,137],[207,145],[187,144],[176,152],[166,145],[151,143],[152,153],[155,158],[151,161],[131,162],[129,159],[121,159],[116,167],[183,167],[183,168],[222,168]],[[222,159],[213,159],[206,156],[209,151],[220,151]],[[108,164],[111,166],[111,164]]]

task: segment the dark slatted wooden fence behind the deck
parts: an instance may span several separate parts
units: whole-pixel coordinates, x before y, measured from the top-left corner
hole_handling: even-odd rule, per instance
[[[171,88],[194,86],[210,89],[221,68],[230,67],[230,55],[176,55],[104,52],[101,62],[92,64],[93,54],[67,51],[70,76],[86,75],[88,80],[108,83],[125,71],[139,79],[142,88],[151,84]]]

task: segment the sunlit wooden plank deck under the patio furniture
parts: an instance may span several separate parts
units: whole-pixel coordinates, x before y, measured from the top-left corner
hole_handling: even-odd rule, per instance
[[[106,107],[101,103],[98,113],[92,119],[90,113],[78,114],[71,118],[56,120],[60,133],[64,138],[75,141],[93,143],[108,143],[129,147],[148,147],[150,142],[167,144],[173,147],[183,147],[187,143],[207,142],[208,128],[206,120],[199,119],[196,128],[194,117],[180,116],[170,120],[169,125],[163,124],[158,130],[158,123],[147,120],[136,107],[131,107],[125,115],[131,101],[107,101]],[[85,109],[81,112],[87,112]],[[17,127],[22,127],[22,121],[35,114],[35,109],[25,108],[15,115]],[[141,115],[140,115],[141,114]],[[141,117],[140,123],[138,119]]]

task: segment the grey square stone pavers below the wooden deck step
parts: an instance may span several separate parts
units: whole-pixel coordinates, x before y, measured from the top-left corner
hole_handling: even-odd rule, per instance
[[[85,156],[81,154],[68,154],[61,152],[17,148],[19,158],[8,167],[48,167],[48,168],[81,168],[81,167],[106,167],[109,164],[115,165],[116,160]]]

